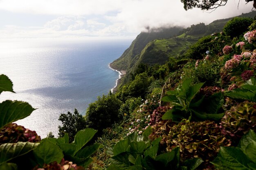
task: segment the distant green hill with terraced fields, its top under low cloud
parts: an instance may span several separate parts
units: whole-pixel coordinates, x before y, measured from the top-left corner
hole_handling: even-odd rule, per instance
[[[254,17],[256,11],[239,15],[238,17]],[[222,31],[225,24],[233,17],[215,20],[209,25],[199,23],[184,29],[181,27],[159,28],[148,33],[140,33],[130,47],[119,57],[110,63],[110,67],[116,70],[126,70],[126,76],[122,84],[128,82],[139,64],[162,65],[169,57],[178,57],[189,46],[205,35]]]

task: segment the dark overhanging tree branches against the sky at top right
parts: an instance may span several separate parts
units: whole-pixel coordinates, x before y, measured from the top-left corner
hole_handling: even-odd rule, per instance
[[[256,0],[245,0],[247,3],[251,1],[254,2],[253,7],[256,9]],[[185,10],[195,7],[202,10],[211,10],[227,4],[227,0],[181,0],[181,2],[184,4]]]

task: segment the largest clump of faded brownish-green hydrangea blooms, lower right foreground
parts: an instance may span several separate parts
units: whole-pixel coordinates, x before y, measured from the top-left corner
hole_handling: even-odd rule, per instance
[[[231,141],[222,135],[215,122],[182,120],[170,129],[167,144],[167,150],[180,147],[182,160],[200,157],[209,162],[217,155],[220,146],[230,146]]]

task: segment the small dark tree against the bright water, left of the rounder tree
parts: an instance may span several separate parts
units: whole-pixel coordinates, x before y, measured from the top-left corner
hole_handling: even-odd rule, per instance
[[[67,133],[70,142],[74,141],[74,136],[78,131],[86,128],[85,119],[80,113],[78,113],[76,109],[74,110],[74,114],[70,113],[69,111],[67,114],[61,113],[58,120],[60,120],[63,125],[58,126],[59,137],[63,137],[65,133]]]

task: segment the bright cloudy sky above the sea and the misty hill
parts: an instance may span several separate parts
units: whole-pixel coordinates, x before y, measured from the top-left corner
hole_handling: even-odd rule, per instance
[[[210,13],[185,11],[180,0],[0,0],[0,39],[131,38],[146,27],[209,24],[252,10],[252,2],[238,2]]]

